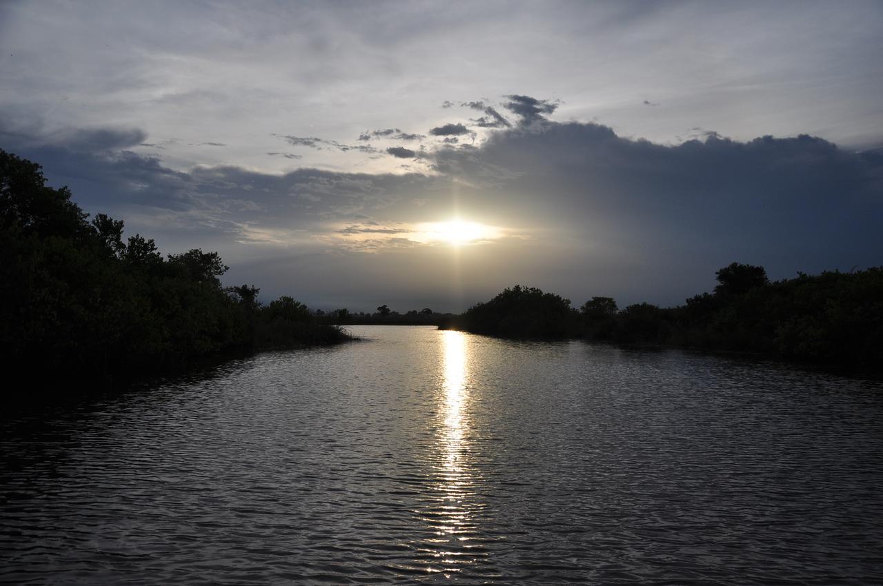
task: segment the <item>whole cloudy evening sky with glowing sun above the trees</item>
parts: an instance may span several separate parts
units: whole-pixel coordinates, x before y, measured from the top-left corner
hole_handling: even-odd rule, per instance
[[[0,3],[0,148],[312,307],[883,265],[883,3]]]

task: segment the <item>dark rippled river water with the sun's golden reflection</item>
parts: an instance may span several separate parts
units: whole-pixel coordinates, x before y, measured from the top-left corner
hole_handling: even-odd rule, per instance
[[[0,581],[883,583],[883,384],[423,327],[7,417]]]

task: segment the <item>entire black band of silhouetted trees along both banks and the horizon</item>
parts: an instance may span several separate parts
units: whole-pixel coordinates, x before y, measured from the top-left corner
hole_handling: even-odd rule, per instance
[[[883,267],[770,282],[732,263],[718,285],[683,305],[569,299],[516,285],[456,315],[311,311],[292,297],[258,301],[253,285],[223,287],[216,252],[166,258],[152,239],[123,239],[106,214],[90,221],[40,165],[0,149],[0,344],[7,375],[106,384],[180,372],[223,356],[354,340],[347,325],[437,326],[531,339],[744,352],[883,370]]]

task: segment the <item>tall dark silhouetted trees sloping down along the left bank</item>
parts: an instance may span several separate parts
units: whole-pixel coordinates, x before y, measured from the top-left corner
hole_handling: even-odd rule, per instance
[[[226,351],[341,342],[306,305],[224,288],[216,252],[163,258],[123,222],[88,215],[39,165],[0,150],[0,344],[12,372],[155,372]]]

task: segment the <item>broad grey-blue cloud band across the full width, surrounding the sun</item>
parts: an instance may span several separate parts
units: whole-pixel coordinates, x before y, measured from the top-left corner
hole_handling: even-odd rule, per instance
[[[883,154],[849,152],[807,135],[738,141],[691,132],[672,146],[618,136],[601,124],[547,120],[495,131],[477,145],[383,151],[419,157],[429,175],[175,170],[157,156],[104,147],[128,139],[47,144],[5,132],[0,139],[42,163],[51,184],[69,184],[87,211],[122,217],[166,250],[217,249],[231,266],[241,255],[253,282],[280,293],[287,292],[277,276],[284,267],[259,269],[270,265],[250,264],[256,253],[242,247],[303,255],[299,281],[316,288],[333,289],[322,275],[340,271],[347,286],[365,291],[380,282],[415,290],[402,267],[427,289],[445,287],[449,275],[430,271],[438,266],[419,256],[429,252],[409,248],[403,232],[449,217],[454,205],[465,218],[521,226],[530,238],[502,238],[464,257],[467,304],[525,275],[571,298],[675,304],[713,286],[714,271],[733,260],[763,265],[774,278],[880,264]],[[139,134],[146,133],[102,136]],[[396,257],[396,272],[347,260],[357,251],[404,256]]]

